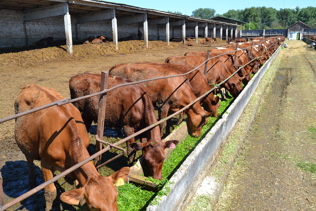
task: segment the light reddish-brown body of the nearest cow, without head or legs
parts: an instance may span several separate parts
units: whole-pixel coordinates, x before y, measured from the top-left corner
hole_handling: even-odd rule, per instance
[[[15,113],[64,99],[53,88],[27,84],[15,100]],[[76,123],[78,122],[78,124]],[[15,140],[26,156],[51,159],[64,156],[74,136],[81,137],[85,147],[89,138],[80,112],[71,104],[52,106],[15,119]],[[57,165],[58,166],[58,165]]]

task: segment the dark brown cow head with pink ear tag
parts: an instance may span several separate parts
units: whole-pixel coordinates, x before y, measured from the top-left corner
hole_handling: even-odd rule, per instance
[[[178,140],[170,141],[148,141],[146,143],[132,143],[130,147],[137,150],[144,150],[144,158],[148,165],[149,176],[154,179],[162,179],[162,164],[165,159],[165,149],[170,148],[171,145],[179,144]]]

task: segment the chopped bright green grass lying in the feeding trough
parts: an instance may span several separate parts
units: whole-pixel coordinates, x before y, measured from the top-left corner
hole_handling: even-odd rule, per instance
[[[154,182],[158,185],[158,193],[147,191],[137,187],[134,184],[125,183],[119,186],[118,191],[118,206],[119,211],[135,211],[135,210],[146,210],[149,204],[157,204],[158,201],[155,198],[167,195],[170,189],[163,189],[168,179],[171,178],[173,173],[179,168],[179,166],[185,161],[185,158],[190,155],[191,151],[197,146],[202,140],[204,134],[210,130],[210,127],[215,124],[216,120],[221,117],[225,112],[226,108],[232,103],[234,98],[231,97],[220,102],[218,108],[218,117],[209,117],[207,124],[203,126],[200,137],[187,136],[177,147],[172,151],[169,159],[163,163],[162,167],[162,180],[155,180],[148,178],[149,181]],[[166,186],[167,187],[167,186]]]

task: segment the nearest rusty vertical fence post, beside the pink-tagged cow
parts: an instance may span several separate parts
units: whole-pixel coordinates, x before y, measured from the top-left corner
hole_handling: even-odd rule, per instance
[[[101,72],[101,82],[100,82],[100,91],[107,89],[107,81],[109,78],[109,72],[102,71]],[[104,115],[106,108],[106,95],[104,93],[100,96],[99,99],[99,112],[98,112],[98,125],[97,125],[97,135],[101,140],[103,140],[103,130],[104,130]],[[102,143],[99,141],[95,141],[95,152],[98,152],[102,149]],[[94,165],[98,166],[101,163],[101,155],[94,159]],[[100,169],[98,169],[100,173]]]

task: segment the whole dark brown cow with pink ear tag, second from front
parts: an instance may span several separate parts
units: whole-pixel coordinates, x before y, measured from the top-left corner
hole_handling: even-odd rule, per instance
[[[83,73],[72,76],[69,80],[71,99],[99,92],[100,80],[101,74]],[[131,81],[124,78],[109,76],[108,88],[129,82]],[[76,101],[73,104],[82,112],[82,119],[89,130],[92,121],[97,122],[98,120],[99,96]],[[123,86],[107,93],[105,126],[123,127],[125,137],[127,137],[156,122],[154,106],[143,85]],[[143,143],[139,145],[143,146],[144,158],[149,167],[149,176],[161,180],[164,150],[169,148],[171,143],[177,145],[179,141],[161,142],[159,126],[140,134],[139,137]],[[131,138],[126,144],[129,146],[132,143],[134,143],[134,138]],[[135,146],[135,144],[131,146]],[[132,148],[127,147],[127,154],[132,164],[131,152]]]

